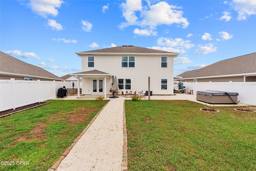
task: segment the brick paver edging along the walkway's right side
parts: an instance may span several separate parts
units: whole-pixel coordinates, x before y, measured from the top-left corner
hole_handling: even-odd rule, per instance
[[[127,131],[126,131],[126,118],[125,118],[125,100],[123,109],[123,133],[124,133],[124,143],[123,143],[123,160],[122,160],[122,171],[128,171],[128,157],[127,157]]]

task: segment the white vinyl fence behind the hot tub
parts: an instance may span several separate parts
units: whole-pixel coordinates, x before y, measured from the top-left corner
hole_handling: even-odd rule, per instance
[[[213,90],[238,93],[239,103],[256,105],[256,82],[183,82],[187,86],[187,92]]]

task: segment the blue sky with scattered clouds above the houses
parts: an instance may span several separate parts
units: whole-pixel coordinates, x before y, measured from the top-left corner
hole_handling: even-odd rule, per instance
[[[61,77],[84,52],[176,52],[174,76],[256,52],[255,0],[0,0],[0,50]]]

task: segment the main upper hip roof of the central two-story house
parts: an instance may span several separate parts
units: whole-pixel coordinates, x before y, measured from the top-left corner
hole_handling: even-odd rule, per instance
[[[173,52],[167,52],[167,51],[162,51],[162,50],[154,50],[150,48],[141,48],[138,46],[117,46],[113,48],[105,48],[105,49],[99,49],[99,50],[90,50],[90,51],[85,51],[85,52],[78,52],[76,54],[90,54],[90,53],[106,53],[106,54],[115,54],[115,53],[128,53],[128,54],[172,54],[174,56],[177,56],[177,53]]]

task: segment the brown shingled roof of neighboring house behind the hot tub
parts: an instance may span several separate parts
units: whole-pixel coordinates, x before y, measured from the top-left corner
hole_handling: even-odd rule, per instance
[[[198,70],[184,72],[178,76],[186,78],[204,78],[210,76],[239,76],[256,74],[256,53],[222,60]]]

